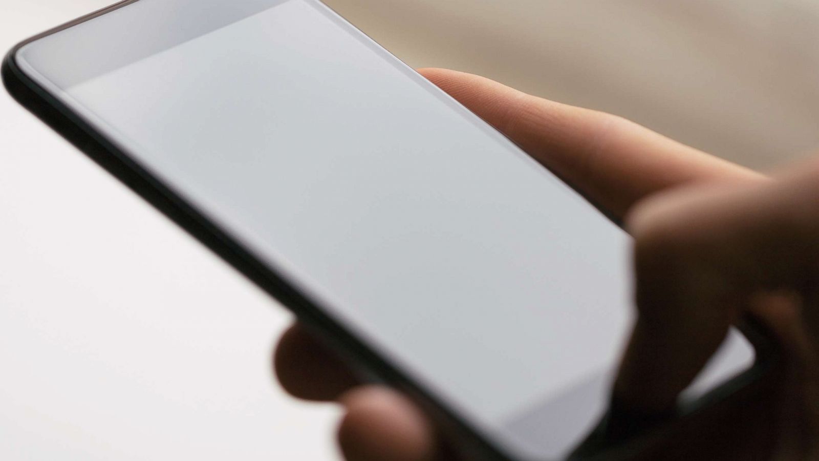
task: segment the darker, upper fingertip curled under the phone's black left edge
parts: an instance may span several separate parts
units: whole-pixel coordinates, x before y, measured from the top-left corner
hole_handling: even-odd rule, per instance
[[[298,324],[291,326],[279,340],[274,369],[284,389],[300,399],[335,400],[359,384],[336,354]]]

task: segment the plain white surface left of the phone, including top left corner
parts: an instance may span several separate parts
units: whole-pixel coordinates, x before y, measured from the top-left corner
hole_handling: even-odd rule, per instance
[[[0,48],[104,2],[18,2]],[[0,459],[332,459],[288,315],[0,95]]]

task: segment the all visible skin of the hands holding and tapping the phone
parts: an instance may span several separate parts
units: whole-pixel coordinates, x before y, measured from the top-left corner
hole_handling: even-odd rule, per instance
[[[477,75],[421,72],[626,223],[638,320],[613,388],[623,408],[671,409],[740,317],[757,318],[781,350],[764,385],[636,459],[819,459],[819,162],[762,176],[618,116]],[[414,404],[358,380],[301,326],[274,355],[288,392],[346,409],[346,459],[455,458]]]

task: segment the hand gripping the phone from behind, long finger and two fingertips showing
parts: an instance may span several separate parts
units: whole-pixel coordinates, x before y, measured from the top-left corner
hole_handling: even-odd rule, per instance
[[[691,189],[699,184],[737,188],[767,184],[752,171],[617,116],[535,98],[476,75],[437,69],[422,73],[618,218],[627,216],[640,199],[684,185]],[[645,215],[636,212],[634,216],[639,219]],[[650,222],[650,218],[645,219]],[[637,352],[631,354],[639,355],[641,346],[635,348]],[[392,390],[358,381],[301,326],[293,326],[283,336],[275,367],[292,395],[337,400],[345,406],[338,436],[347,459],[443,457],[446,441],[437,438],[419,409]],[[635,368],[626,376],[639,372]],[[629,393],[631,381],[618,382],[624,383],[620,387],[624,397],[633,396]],[[668,392],[672,391],[663,395]],[[645,407],[639,399],[634,404]]]

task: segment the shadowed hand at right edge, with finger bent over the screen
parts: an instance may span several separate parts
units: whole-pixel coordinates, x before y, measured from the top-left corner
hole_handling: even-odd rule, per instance
[[[776,369],[710,412],[675,459],[819,459],[819,162],[655,194],[626,221],[638,318],[613,401],[636,414],[673,409],[728,328],[753,317]]]

